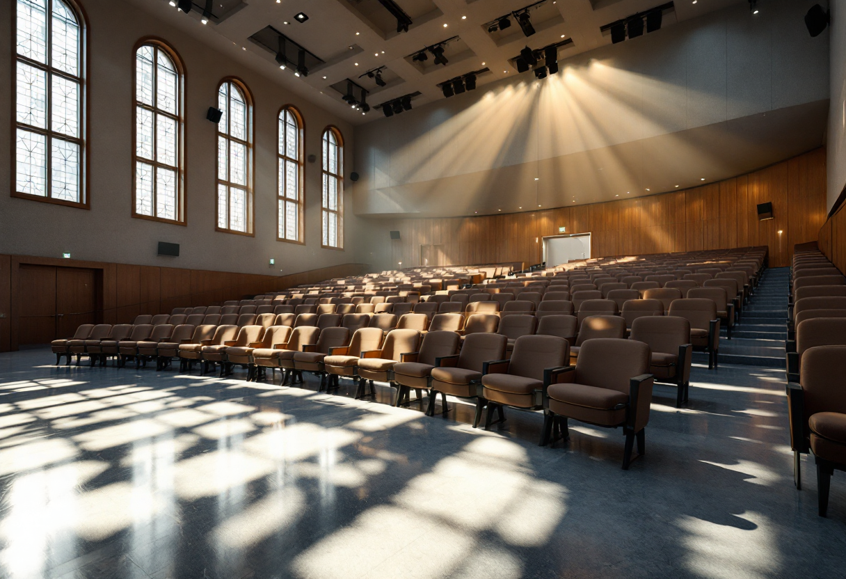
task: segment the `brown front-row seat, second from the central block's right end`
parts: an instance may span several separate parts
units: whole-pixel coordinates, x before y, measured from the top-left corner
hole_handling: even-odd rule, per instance
[[[492,424],[493,412],[497,422],[503,422],[503,406],[525,410],[543,408],[542,393],[558,378],[569,361],[569,343],[557,336],[521,336],[514,342],[509,360],[488,361],[483,365],[481,396],[476,401],[487,406],[485,430]],[[605,362],[607,364],[607,361]]]

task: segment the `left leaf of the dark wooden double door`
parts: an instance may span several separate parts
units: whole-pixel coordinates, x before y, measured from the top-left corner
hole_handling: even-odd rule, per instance
[[[56,267],[21,263],[18,295],[18,344],[56,339]]]

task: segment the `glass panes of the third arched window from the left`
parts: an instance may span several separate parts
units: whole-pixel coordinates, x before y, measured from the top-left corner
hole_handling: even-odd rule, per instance
[[[217,229],[253,234],[253,106],[239,80],[217,88]]]

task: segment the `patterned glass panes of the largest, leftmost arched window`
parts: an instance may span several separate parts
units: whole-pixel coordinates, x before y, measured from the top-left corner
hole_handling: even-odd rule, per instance
[[[13,196],[88,207],[84,21],[63,0],[16,0]]]

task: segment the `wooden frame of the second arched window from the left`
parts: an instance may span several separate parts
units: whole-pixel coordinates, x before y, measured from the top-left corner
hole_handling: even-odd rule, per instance
[[[168,54],[170,57],[171,62],[173,62],[173,68],[176,69],[177,79],[179,83],[178,91],[177,91],[177,113],[175,115],[171,113],[167,113],[162,111],[158,108],[151,107],[150,105],[146,105],[144,103],[138,102],[138,69],[137,64],[135,62],[137,58],[138,51],[140,47],[143,46],[151,46],[154,47],[156,50],[162,50]],[[157,66],[157,58],[156,52],[153,52],[153,70],[155,72]],[[158,78],[158,77],[156,77]],[[156,92],[156,88],[154,85],[153,92]],[[186,211],[186,187],[185,187],[185,114],[184,114],[184,102],[185,102],[185,65],[182,61],[182,58],[179,56],[179,52],[176,52],[176,49],[171,47],[166,41],[162,40],[161,38],[157,38],[155,36],[145,36],[141,38],[138,42],[135,43],[135,47],[132,51],[132,207],[130,207],[130,215],[133,218],[137,219],[147,219],[148,221],[158,221],[160,223],[172,223],[174,225],[188,225],[188,214]],[[166,219],[160,218],[156,215],[143,215],[139,212],[136,212],[136,203],[135,203],[135,167],[137,163],[140,161],[141,163],[146,163],[148,165],[152,165],[153,167],[162,167],[168,168],[167,165],[163,165],[155,160],[156,152],[153,151],[154,159],[145,159],[143,157],[138,157],[137,151],[137,124],[138,124],[138,108],[146,108],[147,110],[163,114],[165,116],[170,117],[171,119],[175,119],[177,122],[177,135],[176,135],[176,219]],[[155,117],[154,117],[155,119]],[[154,141],[155,141],[155,123],[153,124],[153,131],[154,131]],[[154,146],[155,149],[155,146]],[[157,183],[156,179],[153,179],[153,201],[152,207],[155,211],[156,208],[156,190],[157,190]]]

